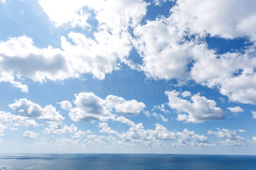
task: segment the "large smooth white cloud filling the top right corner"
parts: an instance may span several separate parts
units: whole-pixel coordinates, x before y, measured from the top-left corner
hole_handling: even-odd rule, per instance
[[[256,26],[254,1],[206,0],[198,3],[196,0],[178,0],[176,4],[171,9],[173,22],[188,28],[191,33],[210,33],[227,39],[256,33],[253,29]]]

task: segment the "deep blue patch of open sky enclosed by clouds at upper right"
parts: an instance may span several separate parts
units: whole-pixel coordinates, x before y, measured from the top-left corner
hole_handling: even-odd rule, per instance
[[[247,46],[251,46],[253,43],[250,42],[248,37],[236,38],[236,39],[223,39],[219,37],[206,37],[206,42],[210,49],[215,49],[218,54],[227,52],[243,52]]]

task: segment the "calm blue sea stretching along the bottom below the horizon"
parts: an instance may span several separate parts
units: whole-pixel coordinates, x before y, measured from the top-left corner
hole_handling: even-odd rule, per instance
[[[4,169],[5,168],[5,169]],[[256,170],[252,155],[187,154],[0,154],[0,169]]]

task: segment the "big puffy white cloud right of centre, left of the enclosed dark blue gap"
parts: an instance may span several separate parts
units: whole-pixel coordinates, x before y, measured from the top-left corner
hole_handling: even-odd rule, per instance
[[[194,43],[181,41],[183,32],[179,32],[168,18],[147,21],[134,29],[138,38],[133,41],[142,57],[141,69],[149,76],[160,79],[185,79],[189,52]]]

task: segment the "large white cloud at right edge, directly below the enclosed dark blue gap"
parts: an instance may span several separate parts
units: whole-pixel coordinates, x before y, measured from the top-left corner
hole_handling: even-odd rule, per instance
[[[191,69],[192,78],[209,88],[217,87],[231,102],[256,104],[253,82],[256,80],[254,47],[241,53],[225,53],[219,58],[208,53],[208,58],[198,58]],[[215,70],[215,71],[214,71]],[[218,71],[217,71],[218,70]],[[237,74],[237,75],[235,75]]]

